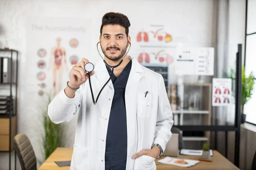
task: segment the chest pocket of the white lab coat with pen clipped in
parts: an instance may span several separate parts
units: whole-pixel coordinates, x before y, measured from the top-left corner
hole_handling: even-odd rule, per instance
[[[139,93],[137,101],[137,116],[139,117],[150,117],[150,107],[151,107],[151,94]]]

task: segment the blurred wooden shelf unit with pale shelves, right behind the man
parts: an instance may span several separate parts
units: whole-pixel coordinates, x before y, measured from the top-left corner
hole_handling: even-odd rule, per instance
[[[170,85],[168,96],[172,106],[174,125],[211,125],[211,83],[182,83],[179,85]],[[192,101],[190,101],[190,99],[192,99]],[[190,107],[190,105],[192,105],[192,107]],[[192,132],[183,131],[183,140],[198,141],[201,142],[201,145],[203,142],[209,144],[210,132],[193,134]]]

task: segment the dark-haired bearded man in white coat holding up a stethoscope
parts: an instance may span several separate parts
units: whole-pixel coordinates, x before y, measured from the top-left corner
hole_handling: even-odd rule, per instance
[[[103,16],[99,40],[108,65],[117,65],[124,57],[131,42],[129,26],[123,14]],[[125,57],[94,105],[84,70],[87,62],[82,59],[72,68],[67,87],[48,108],[54,123],[70,121],[79,109],[70,169],[155,170],[154,160],[165,150],[173,125],[163,77]],[[111,68],[101,60],[91,75],[97,96]]]

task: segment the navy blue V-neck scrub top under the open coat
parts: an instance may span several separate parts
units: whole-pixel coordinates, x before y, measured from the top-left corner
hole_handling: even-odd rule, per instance
[[[108,73],[111,69],[107,66]],[[131,61],[116,77],[111,77],[114,96],[108,120],[105,152],[105,170],[125,170],[127,159],[127,123],[125,110],[125,87],[131,71]]]

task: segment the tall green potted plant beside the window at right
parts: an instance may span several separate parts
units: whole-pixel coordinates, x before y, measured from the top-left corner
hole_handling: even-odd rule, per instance
[[[241,123],[245,122],[246,114],[244,114],[244,105],[251,99],[253,95],[253,88],[255,84],[255,76],[253,72],[251,71],[249,76],[245,76],[245,68],[244,65],[242,65],[242,94],[241,94]],[[231,68],[230,70],[230,76],[233,81],[236,80],[236,66]],[[233,91],[233,95],[236,93]]]

